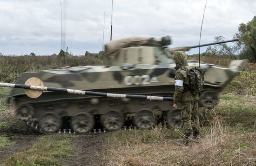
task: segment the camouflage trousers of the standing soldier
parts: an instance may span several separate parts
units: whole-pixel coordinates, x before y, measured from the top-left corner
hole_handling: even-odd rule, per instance
[[[182,130],[190,135],[192,131],[199,133],[199,117],[197,101],[183,102],[181,104]]]

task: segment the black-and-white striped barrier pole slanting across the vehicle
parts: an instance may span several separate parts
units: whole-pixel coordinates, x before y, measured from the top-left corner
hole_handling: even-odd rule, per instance
[[[22,89],[32,89],[32,90],[37,90],[37,91],[63,92],[63,93],[73,93],[73,94],[81,94],[81,95],[88,94],[88,95],[110,97],[110,98],[129,98],[129,99],[173,101],[172,97],[146,96],[146,95],[134,95],[134,94],[118,94],[118,93],[102,93],[102,92],[82,91],[82,90],[75,90],[75,89],[65,89],[65,88],[46,87],[46,86],[9,84],[9,83],[2,83],[2,82],[0,82],[0,86],[12,87],[12,88],[22,88]],[[37,96],[37,97],[39,97],[39,96]]]

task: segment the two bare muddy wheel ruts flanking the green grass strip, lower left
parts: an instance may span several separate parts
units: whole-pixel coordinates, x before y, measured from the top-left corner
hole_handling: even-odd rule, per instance
[[[26,127],[26,126],[25,126]],[[9,130],[9,131],[7,131]],[[14,131],[15,132],[15,131]],[[41,136],[39,133],[12,133],[12,127],[2,127],[0,129],[1,136],[7,136],[11,141],[15,141],[12,146],[0,148],[0,163],[14,153],[29,149]],[[59,162],[63,166],[99,166],[102,163],[102,145],[103,139],[108,136],[108,133],[102,134],[84,134],[78,135],[71,139],[71,146],[74,148],[74,153],[71,158],[60,158]]]

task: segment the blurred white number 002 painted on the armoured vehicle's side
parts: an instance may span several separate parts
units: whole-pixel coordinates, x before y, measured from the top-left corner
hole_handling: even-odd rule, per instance
[[[124,78],[125,85],[147,85],[149,82],[149,75],[128,75]]]

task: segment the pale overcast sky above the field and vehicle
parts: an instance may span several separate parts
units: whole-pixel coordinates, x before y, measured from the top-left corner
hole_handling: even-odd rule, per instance
[[[112,0],[66,0],[67,7],[65,0],[61,1],[68,52],[98,53],[102,49],[104,12],[104,43],[110,40]],[[114,0],[112,39],[170,35],[173,44],[169,47],[198,45],[205,1]],[[0,0],[0,53],[59,53],[60,4],[60,0]],[[217,35],[232,39],[239,24],[254,15],[256,0],[208,0],[201,44],[212,42]],[[187,53],[198,53],[198,49]]]

